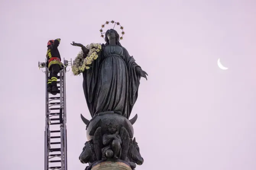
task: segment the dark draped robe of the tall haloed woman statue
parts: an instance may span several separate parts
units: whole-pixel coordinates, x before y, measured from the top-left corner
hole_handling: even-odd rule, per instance
[[[83,72],[84,95],[92,117],[104,111],[130,117],[141,78],[136,67],[139,65],[124,47],[102,46],[92,67]]]

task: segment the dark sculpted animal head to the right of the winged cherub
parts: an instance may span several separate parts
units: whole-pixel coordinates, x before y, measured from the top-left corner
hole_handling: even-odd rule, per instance
[[[143,157],[139,153],[139,146],[135,138],[133,138],[133,140],[130,139],[130,146],[129,146],[127,157],[130,160],[130,162],[134,162],[138,165],[142,165],[144,162]]]

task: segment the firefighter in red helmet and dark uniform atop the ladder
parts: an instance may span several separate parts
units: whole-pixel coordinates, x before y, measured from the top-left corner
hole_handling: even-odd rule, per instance
[[[58,46],[60,44],[60,38],[56,40],[49,40],[47,43],[47,67],[49,68],[50,75],[47,82],[47,91],[56,95],[60,90],[57,88],[57,76],[62,69],[60,52],[58,51]]]

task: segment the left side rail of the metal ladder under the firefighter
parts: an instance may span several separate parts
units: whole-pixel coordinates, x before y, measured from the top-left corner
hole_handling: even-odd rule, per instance
[[[45,59],[45,143],[44,143],[44,169],[48,170],[49,167],[49,162],[48,162],[48,130],[49,130],[49,126],[48,126],[48,111],[49,111],[49,103],[48,103],[48,92],[47,92],[47,82],[48,82],[48,73],[49,70],[46,66],[47,63],[47,59]]]

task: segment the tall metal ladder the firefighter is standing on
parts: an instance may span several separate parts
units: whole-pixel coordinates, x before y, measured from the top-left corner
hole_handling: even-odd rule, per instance
[[[45,68],[45,170],[67,170],[67,134],[66,134],[66,67],[72,65],[64,60],[65,67],[58,73],[57,86],[60,90],[56,95],[47,92],[49,69],[45,62],[38,62]]]

